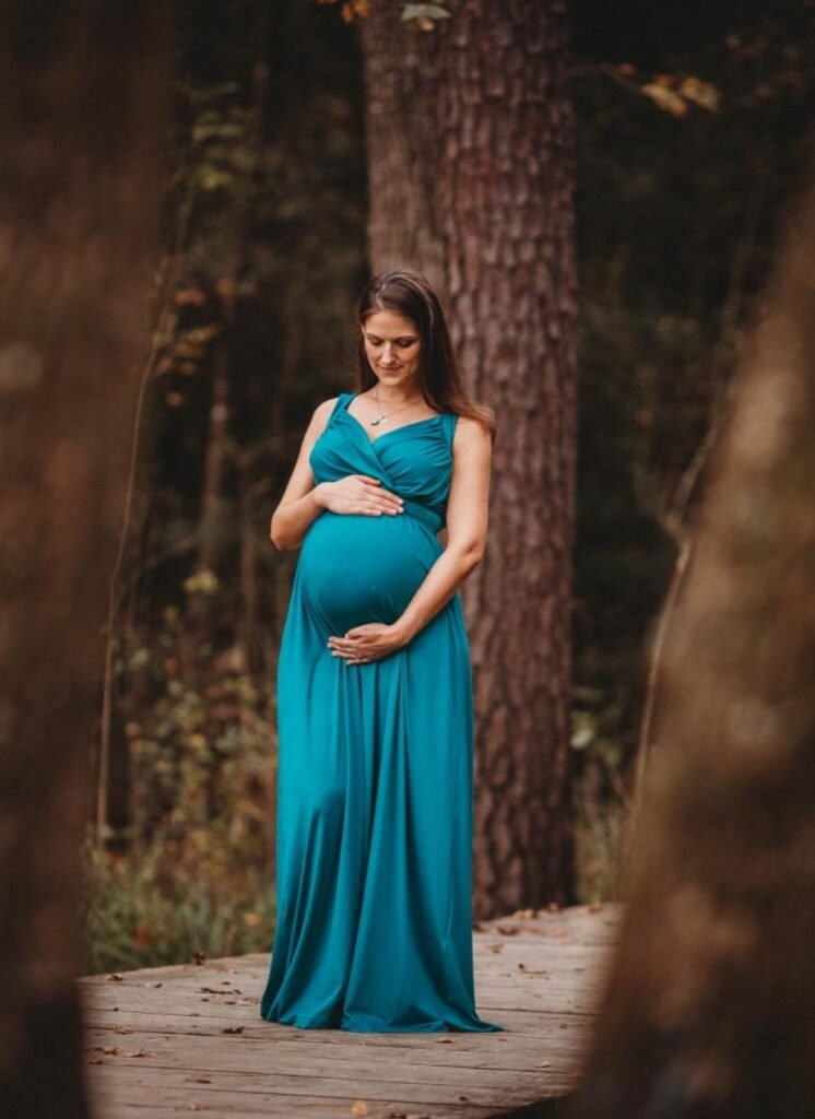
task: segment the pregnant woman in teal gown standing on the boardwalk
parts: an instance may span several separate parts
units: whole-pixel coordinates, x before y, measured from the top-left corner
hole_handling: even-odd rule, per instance
[[[503,1029],[474,1002],[457,594],[484,549],[494,421],[468,401],[421,275],[371,280],[359,327],[359,391],[316,408],[272,518],[274,544],[301,552],[277,669],[277,925],[260,1015]]]

